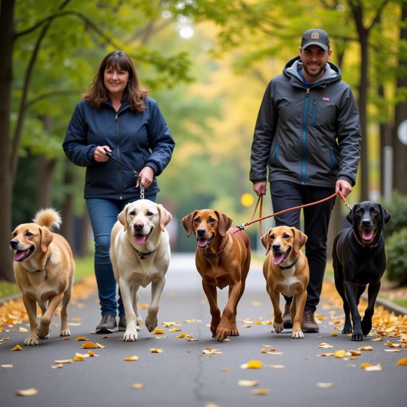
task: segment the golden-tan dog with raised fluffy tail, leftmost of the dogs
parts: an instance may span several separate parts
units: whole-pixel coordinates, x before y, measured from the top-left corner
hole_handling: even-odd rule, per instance
[[[60,336],[69,336],[67,307],[72,294],[75,263],[68,242],[49,228],[59,227],[60,215],[51,208],[37,212],[34,223],[18,225],[11,234],[14,276],[30,319],[30,336],[24,345],[47,339],[49,324],[62,301]],[[37,323],[37,302],[42,311]],[[48,302],[48,305],[46,305]]]

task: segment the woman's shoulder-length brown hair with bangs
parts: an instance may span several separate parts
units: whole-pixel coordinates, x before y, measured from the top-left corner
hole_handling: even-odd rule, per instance
[[[107,101],[108,95],[104,84],[106,68],[121,69],[129,72],[129,82],[126,86],[123,100],[129,101],[132,110],[143,111],[146,108],[144,100],[147,98],[148,91],[147,88],[140,84],[133,62],[124,51],[113,51],[104,57],[93,82],[89,86],[88,92],[82,95],[82,99],[96,108],[99,108],[102,103]]]

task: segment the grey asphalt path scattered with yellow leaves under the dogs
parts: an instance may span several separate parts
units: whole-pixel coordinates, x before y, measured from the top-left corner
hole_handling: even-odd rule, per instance
[[[140,303],[149,303],[149,287],[140,289],[139,294]],[[227,289],[218,290],[221,308],[226,297]],[[71,304],[68,309],[70,322],[80,318],[80,325],[70,327],[70,340],[56,340],[59,338],[57,327],[53,327],[50,338],[38,346],[23,346],[27,333],[18,332],[18,327],[9,333],[0,332],[0,338],[6,335],[11,338],[0,344],[0,364],[13,365],[12,368],[0,367],[2,406],[405,405],[407,368],[397,366],[396,361],[407,357],[407,351],[384,352],[388,348],[385,341],[370,341],[375,336],[369,336],[362,343],[352,342],[340,331],[336,331],[338,336],[332,337],[334,327],[329,322],[332,315],[340,315],[341,310],[333,309],[326,300],[321,301],[317,311],[328,318],[319,325],[318,334],[305,334],[304,339],[292,339],[289,330],[275,334],[271,333],[271,325],[256,324],[255,321],[266,322],[273,316],[261,267],[254,263],[238,307],[238,318],[246,321],[238,323],[240,336],[231,337],[230,341],[217,342],[211,337],[207,326],[210,323],[208,302],[190,254],[174,254],[171,259],[158,313],[158,327],[164,334],[153,335],[142,326],[137,342],[124,342],[123,332],[102,339],[102,335],[91,333],[100,319],[96,296],[81,303],[84,306]],[[140,313],[144,318],[147,310],[141,309]],[[59,317],[53,321],[60,324]],[[162,322],[176,322],[182,331],[168,332],[170,328],[163,327]],[[245,325],[250,328],[244,328]],[[183,332],[198,340],[176,338]],[[53,369],[55,360],[71,359],[76,352],[86,352],[81,349],[83,342],[73,340],[77,336],[85,336],[105,347],[93,350],[97,357]],[[157,339],[156,336],[166,337]],[[321,342],[328,342],[333,348],[318,348]],[[22,351],[10,351],[16,344],[22,346]],[[374,349],[362,352],[356,360],[317,357],[324,352],[356,350],[360,345],[372,345]],[[207,347],[221,353],[202,354]],[[151,353],[151,348],[161,348],[163,352]],[[270,348],[275,351],[261,353]],[[124,361],[133,355],[139,359]],[[241,368],[250,360],[259,360],[263,366]],[[364,371],[360,367],[363,362],[380,363],[382,370]],[[280,368],[276,368],[279,365]],[[256,380],[258,385],[241,387],[239,380]],[[318,382],[330,387],[317,387]],[[132,389],[135,383],[143,384],[144,388]],[[38,390],[36,396],[16,395],[17,390],[32,387]],[[267,389],[269,393],[253,395],[254,389]]]

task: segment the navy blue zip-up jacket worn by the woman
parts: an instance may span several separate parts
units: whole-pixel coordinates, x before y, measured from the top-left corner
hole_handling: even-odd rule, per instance
[[[128,199],[139,196],[136,179],[129,169],[109,159],[97,162],[97,146],[109,146],[113,157],[136,171],[149,166],[155,177],[171,159],[175,142],[155,100],[147,98],[142,112],[124,102],[116,112],[110,101],[98,109],[81,100],[69,123],[63,149],[74,164],[86,167],[84,197]],[[146,197],[160,189],[154,177]]]

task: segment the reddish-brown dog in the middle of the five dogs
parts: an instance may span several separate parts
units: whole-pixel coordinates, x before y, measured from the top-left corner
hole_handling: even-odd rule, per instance
[[[209,301],[212,337],[218,341],[239,335],[236,312],[250,267],[249,237],[244,231],[231,234],[231,223],[227,215],[211,209],[194,211],[182,219],[187,237],[193,233],[197,241],[195,264]],[[229,298],[221,316],[216,287],[227,285]]]

